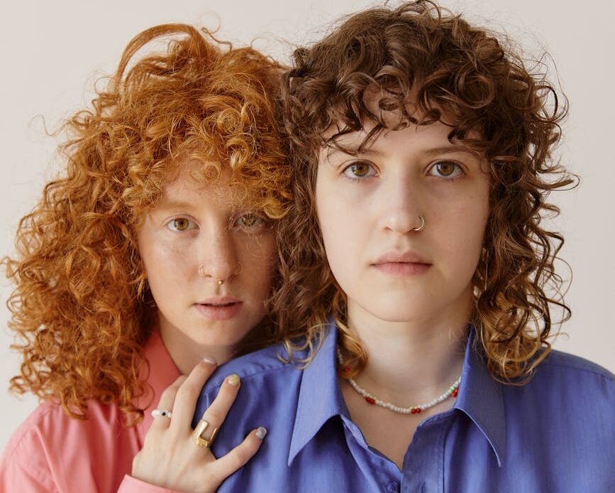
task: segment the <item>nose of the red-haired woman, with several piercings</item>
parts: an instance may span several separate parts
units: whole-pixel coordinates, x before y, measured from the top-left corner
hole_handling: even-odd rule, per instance
[[[199,260],[197,271],[202,277],[226,281],[240,270],[233,232],[228,224],[218,224],[201,230],[199,238]]]

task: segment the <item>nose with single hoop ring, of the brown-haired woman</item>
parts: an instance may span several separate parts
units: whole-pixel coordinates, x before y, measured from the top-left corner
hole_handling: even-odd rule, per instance
[[[421,209],[421,193],[410,180],[392,180],[381,193],[382,228],[399,234],[422,229],[425,211]]]

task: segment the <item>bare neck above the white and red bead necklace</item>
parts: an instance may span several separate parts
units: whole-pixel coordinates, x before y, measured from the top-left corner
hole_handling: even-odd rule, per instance
[[[380,399],[411,406],[430,401],[461,374],[468,313],[389,322],[348,305],[348,323],[368,354],[355,380]]]

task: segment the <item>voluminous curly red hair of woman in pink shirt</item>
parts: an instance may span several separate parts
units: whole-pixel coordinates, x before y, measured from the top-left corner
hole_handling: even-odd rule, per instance
[[[95,399],[140,420],[155,305],[135,232],[186,159],[204,163],[205,179],[212,166],[229,168],[250,205],[272,219],[285,214],[289,168],[274,104],[281,73],[256,50],[185,24],[128,43],[92,108],[60,127],[65,170],[21,219],[16,258],[2,261],[16,284],[7,305],[23,354],[12,391],[55,399],[72,417],[86,418]]]

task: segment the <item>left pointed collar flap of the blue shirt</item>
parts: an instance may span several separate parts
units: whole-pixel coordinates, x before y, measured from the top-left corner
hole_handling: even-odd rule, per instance
[[[325,327],[322,345],[303,370],[288,465],[332,416],[348,415],[336,371],[337,330]]]

